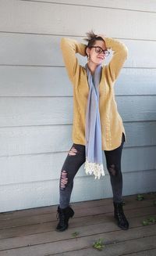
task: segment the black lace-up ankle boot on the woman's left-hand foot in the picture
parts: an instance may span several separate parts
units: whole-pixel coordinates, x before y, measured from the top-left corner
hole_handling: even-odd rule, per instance
[[[71,207],[68,206],[65,209],[61,209],[58,206],[59,222],[56,227],[56,231],[64,231],[64,230],[68,229],[69,218],[72,218],[73,215],[74,215],[74,211]]]

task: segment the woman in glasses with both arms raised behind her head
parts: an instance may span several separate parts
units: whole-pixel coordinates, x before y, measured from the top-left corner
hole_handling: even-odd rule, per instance
[[[128,229],[122,209],[122,146],[125,129],[115,103],[114,83],[126,60],[126,46],[104,35],[87,33],[87,45],[62,38],[62,55],[73,84],[73,146],[62,166],[57,231],[68,228],[74,215],[69,206],[73,178],[85,162],[85,170],[95,178],[105,175],[102,150],[105,152],[112,184],[114,217],[121,229]],[[102,66],[108,49],[113,56],[107,66]],[[85,67],[80,66],[76,53],[87,56]]]

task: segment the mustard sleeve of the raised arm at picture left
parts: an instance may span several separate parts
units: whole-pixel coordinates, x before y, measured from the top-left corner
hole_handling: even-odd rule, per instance
[[[78,63],[78,59],[76,58],[76,53],[86,56],[85,48],[86,45],[78,43],[76,40],[70,38],[62,38],[61,40],[63,60],[69,78],[72,82],[75,81],[75,78],[78,78],[80,74],[80,65]]]

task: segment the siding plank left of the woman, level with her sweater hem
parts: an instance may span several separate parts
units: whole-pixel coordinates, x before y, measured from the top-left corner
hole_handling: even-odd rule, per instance
[[[72,125],[1,128],[0,155],[67,151],[72,144],[71,132]]]

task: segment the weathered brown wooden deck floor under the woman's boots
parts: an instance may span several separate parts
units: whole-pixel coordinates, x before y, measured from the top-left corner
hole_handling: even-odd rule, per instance
[[[75,215],[66,232],[55,232],[56,206],[0,214],[0,256],[156,255],[156,225],[142,221],[156,216],[156,194],[124,197],[130,228],[120,230],[112,216],[112,199],[72,204]],[[76,237],[74,237],[74,234]],[[102,239],[102,251],[93,243]]]

